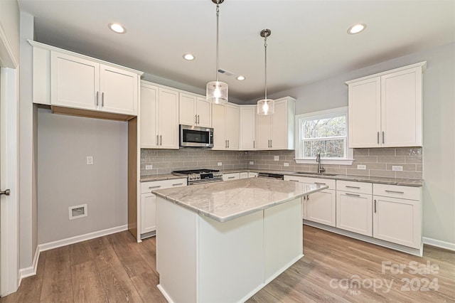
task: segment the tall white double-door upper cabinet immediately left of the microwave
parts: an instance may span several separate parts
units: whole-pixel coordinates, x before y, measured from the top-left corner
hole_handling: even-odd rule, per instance
[[[178,149],[178,91],[141,81],[141,148]]]

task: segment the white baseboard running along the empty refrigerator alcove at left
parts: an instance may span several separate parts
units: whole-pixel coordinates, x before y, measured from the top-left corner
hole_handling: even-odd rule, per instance
[[[70,245],[74,243],[79,243],[86,240],[91,240],[95,238],[102,237],[104,235],[111,235],[112,233],[119,233],[121,231],[128,230],[128,225],[117,226],[114,228],[107,228],[105,230],[98,230],[93,233],[86,233],[85,235],[77,235],[75,237],[66,238],[62,240],[57,240],[53,242],[43,243],[38,245],[35,252],[35,257],[33,258],[33,263],[31,267],[21,268],[19,270],[19,285],[21,285],[21,281],[25,277],[31,277],[36,275],[36,269],[38,267],[38,260],[40,257],[40,253],[45,250],[52,250],[54,248],[61,248],[65,245]]]

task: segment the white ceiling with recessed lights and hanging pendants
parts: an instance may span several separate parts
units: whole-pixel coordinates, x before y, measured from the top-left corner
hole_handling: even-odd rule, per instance
[[[36,41],[205,90],[215,80],[216,15],[210,0],[18,0],[35,16]],[[107,28],[119,22],[127,33]],[[362,33],[349,26],[366,23]],[[455,41],[455,1],[225,0],[220,75],[234,102]],[[186,61],[184,53],[196,60]],[[246,80],[236,80],[244,75]]]

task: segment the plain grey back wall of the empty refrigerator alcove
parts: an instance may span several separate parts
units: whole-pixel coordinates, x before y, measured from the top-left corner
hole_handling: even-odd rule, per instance
[[[127,127],[38,109],[40,244],[127,224]],[[88,216],[69,220],[68,207],[85,203]]]

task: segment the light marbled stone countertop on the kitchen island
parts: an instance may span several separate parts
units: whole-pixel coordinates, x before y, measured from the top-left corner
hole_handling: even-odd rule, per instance
[[[326,188],[319,184],[248,178],[151,192],[201,216],[226,222]]]

